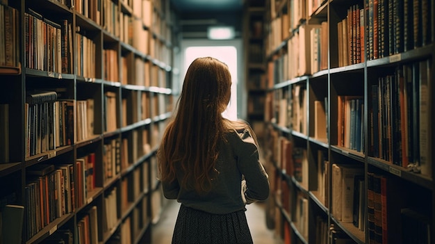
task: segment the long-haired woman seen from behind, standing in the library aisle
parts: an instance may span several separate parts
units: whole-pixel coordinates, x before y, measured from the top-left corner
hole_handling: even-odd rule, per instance
[[[245,122],[222,117],[231,74],[215,58],[197,58],[158,150],[163,193],[181,202],[172,243],[252,243],[245,204],[269,195],[258,143]]]

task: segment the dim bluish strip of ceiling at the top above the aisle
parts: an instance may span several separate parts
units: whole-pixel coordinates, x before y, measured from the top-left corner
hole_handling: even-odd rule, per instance
[[[242,10],[244,0],[170,0],[179,13],[192,12],[237,12]]]

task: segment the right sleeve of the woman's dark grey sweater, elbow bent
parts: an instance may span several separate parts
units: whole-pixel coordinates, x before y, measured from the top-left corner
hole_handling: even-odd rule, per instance
[[[247,204],[268,199],[270,186],[268,174],[259,159],[258,147],[248,130],[239,133],[240,140],[235,147],[238,168],[245,177],[242,190]]]

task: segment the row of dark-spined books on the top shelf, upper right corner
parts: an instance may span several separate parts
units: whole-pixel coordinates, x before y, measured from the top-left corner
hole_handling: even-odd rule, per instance
[[[368,60],[416,49],[434,42],[430,0],[368,0]]]

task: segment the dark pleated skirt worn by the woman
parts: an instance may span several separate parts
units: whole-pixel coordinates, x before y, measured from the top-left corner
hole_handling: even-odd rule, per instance
[[[212,214],[181,204],[172,243],[253,243],[244,210]]]

